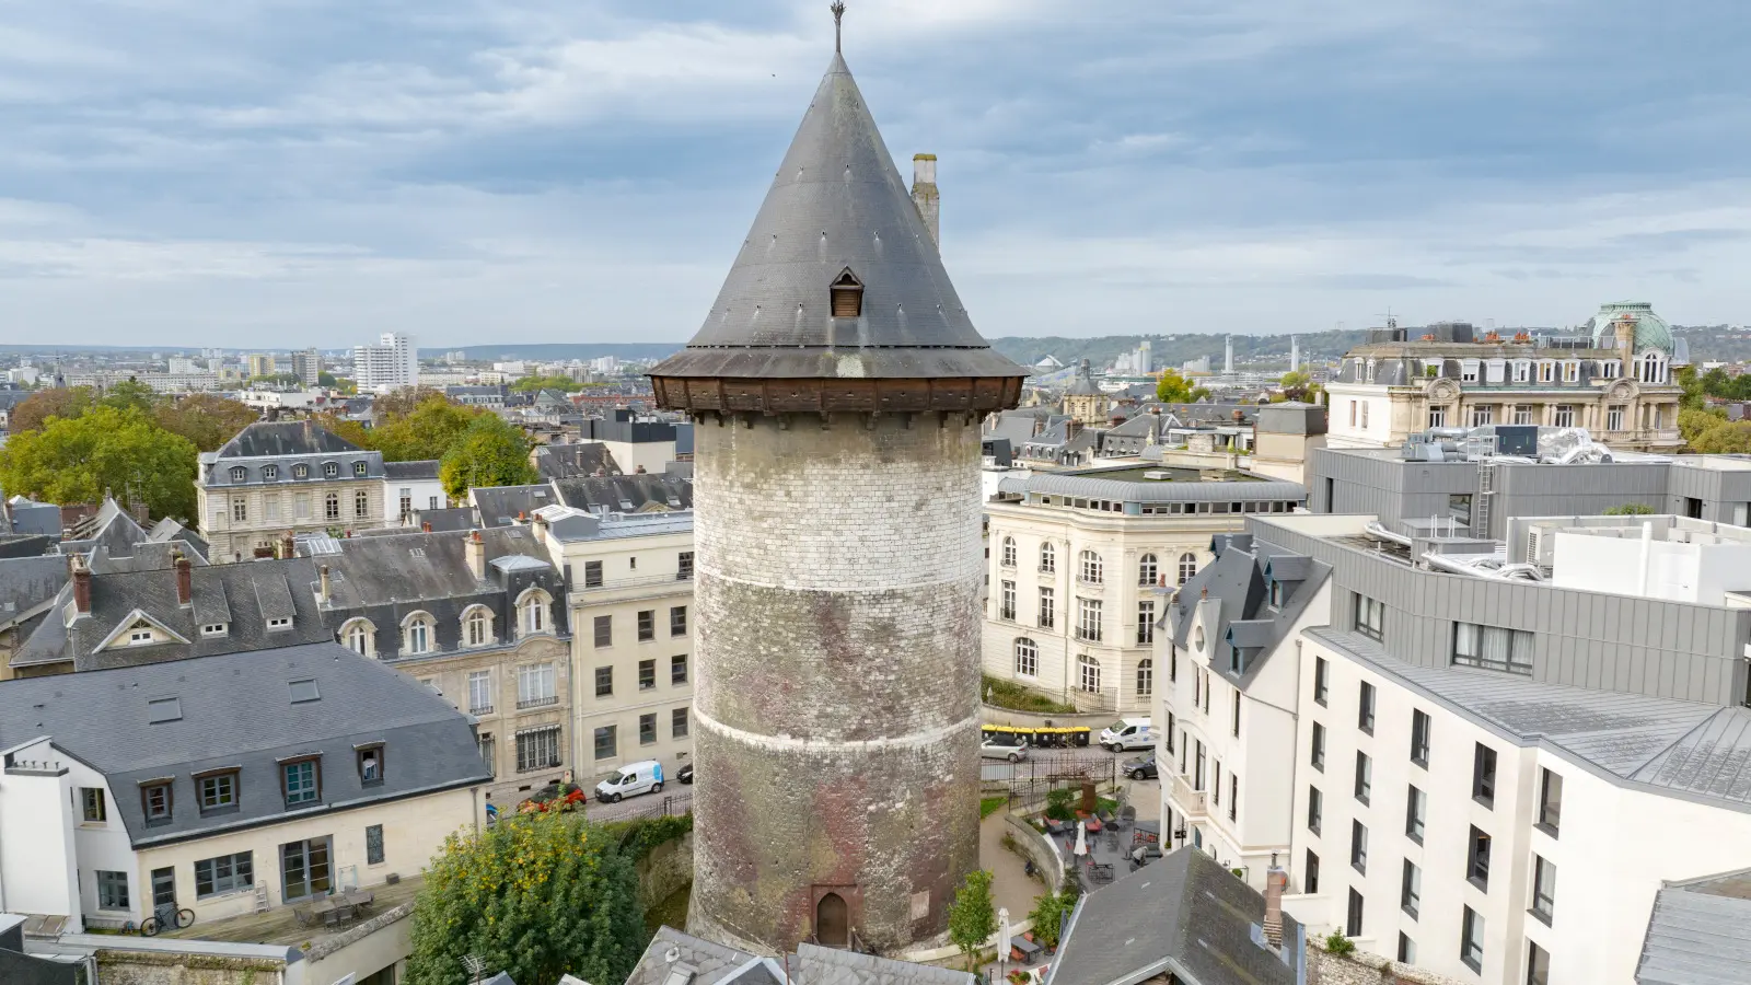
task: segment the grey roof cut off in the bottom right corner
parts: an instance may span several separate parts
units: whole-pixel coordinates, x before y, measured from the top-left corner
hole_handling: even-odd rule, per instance
[[[1751,869],[1672,882],[1648,917],[1637,985],[1751,983]]]

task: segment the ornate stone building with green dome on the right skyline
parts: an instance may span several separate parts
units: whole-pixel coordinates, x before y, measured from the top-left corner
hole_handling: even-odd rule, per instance
[[[1429,428],[1586,428],[1613,449],[1677,450],[1683,340],[1642,301],[1600,305],[1574,337],[1476,338],[1441,322],[1417,340],[1389,324],[1326,384],[1334,449],[1397,447]]]

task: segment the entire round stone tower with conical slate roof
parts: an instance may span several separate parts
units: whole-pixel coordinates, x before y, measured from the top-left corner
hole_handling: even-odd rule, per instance
[[[697,422],[690,929],[776,953],[942,934],[979,862],[974,330],[835,53],[657,403]]]

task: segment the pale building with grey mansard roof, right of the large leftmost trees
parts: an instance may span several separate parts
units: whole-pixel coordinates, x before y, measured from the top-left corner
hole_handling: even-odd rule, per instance
[[[383,526],[383,456],[310,421],[263,421],[201,452],[194,492],[208,559],[238,561],[285,531]]]

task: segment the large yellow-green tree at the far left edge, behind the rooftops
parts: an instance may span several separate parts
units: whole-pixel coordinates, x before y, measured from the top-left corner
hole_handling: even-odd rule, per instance
[[[194,443],[138,410],[95,407],[51,417],[0,447],[0,487],[49,503],[116,496],[145,503],[152,517],[194,522]]]

